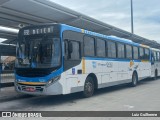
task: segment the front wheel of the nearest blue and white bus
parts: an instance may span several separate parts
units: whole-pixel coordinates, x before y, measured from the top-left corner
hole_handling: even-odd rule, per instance
[[[91,97],[94,94],[94,82],[92,77],[87,77],[85,84],[84,84],[84,97]]]

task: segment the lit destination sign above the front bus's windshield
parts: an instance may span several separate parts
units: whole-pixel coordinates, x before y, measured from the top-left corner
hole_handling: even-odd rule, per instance
[[[53,33],[53,26],[43,27],[43,28],[26,29],[23,32],[24,35],[38,35],[38,34],[47,34],[47,33]]]

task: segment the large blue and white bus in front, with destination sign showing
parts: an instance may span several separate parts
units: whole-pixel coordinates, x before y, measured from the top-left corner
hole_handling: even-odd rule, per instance
[[[70,94],[85,97],[98,88],[151,76],[149,46],[65,24],[20,29],[15,64],[15,88],[35,95]]]

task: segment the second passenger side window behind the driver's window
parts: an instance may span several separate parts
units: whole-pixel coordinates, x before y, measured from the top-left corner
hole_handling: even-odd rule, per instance
[[[105,41],[101,39],[97,39],[97,56],[98,57],[105,57]]]

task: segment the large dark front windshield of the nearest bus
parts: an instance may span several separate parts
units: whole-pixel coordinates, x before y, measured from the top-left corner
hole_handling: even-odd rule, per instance
[[[17,46],[17,68],[53,68],[60,65],[59,38],[28,37]]]

